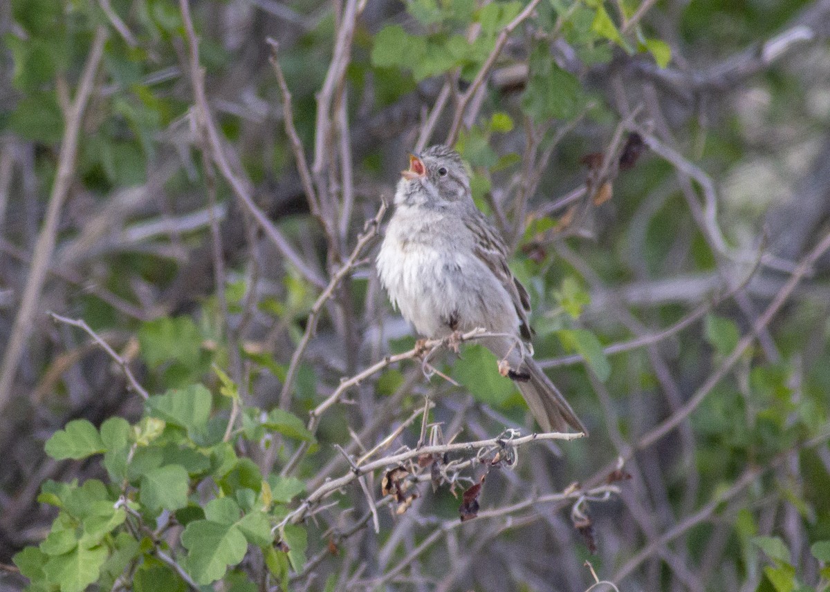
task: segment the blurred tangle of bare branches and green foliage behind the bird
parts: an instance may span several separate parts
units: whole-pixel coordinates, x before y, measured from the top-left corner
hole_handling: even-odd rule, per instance
[[[830,539],[828,0],[186,12],[195,67],[176,2],[0,3],[0,589],[26,586],[12,556],[55,517],[41,483],[105,475],[50,459],[46,439],[139,419],[125,367],[151,395],[201,382],[227,418],[216,364],[242,405],[305,423],[341,379],[413,347],[377,241],[349,255],[408,151],[445,142],[590,436],[422,483],[405,511],[378,509],[377,532],[344,488],[306,521],[320,560],[291,590],[587,590],[586,560],[619,590],[827,589],[811,547]],[[237,453],[265,476],[300,450],[311,493],[349,471],[334,444],[414,446],[425,396],[437,444],[535,429],[480,347],[430,363],[359,381],[305,456]],[[461,525],[457,496],[485,473],[491,514]],[[551,497],[575,482],[618,489]],[[349,532],[336,553],[332,529]]]

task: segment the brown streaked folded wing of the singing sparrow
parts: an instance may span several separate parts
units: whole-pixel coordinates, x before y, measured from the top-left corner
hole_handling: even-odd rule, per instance
[[[508,253],[504,240],[501,240],[496,229],[480,212],[468,221],[466,226],[476,237],[476,256],[484,261],[487,268],[505,287],[507,294],[510,294],[516,314],[519,315],[521,337],[530,342],[532,333],[527,320],[527,315],[530,313],[530,295],[507,266]]]

